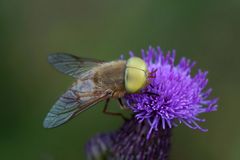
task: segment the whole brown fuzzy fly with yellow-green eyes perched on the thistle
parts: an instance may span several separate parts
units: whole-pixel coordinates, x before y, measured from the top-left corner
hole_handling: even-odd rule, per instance
[[[67,53],[50,54],[48,61],[57,70],[76,78],[76,82],[56,101],[44,119],[44,128],[54,128],[76,117],[96,103],[106,100],[107,112],[110,98],[118,99],[126,93],[137,93],[148,83],[152,73],[138,57],[128,60],[104,62],[80,58]]]

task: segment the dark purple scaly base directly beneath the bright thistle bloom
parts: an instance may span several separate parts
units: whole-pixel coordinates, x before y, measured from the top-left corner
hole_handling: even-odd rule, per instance
[[[146,138],[149,130],[146,122],[138,123],[135,118],[126,121],[116,132],[110,148],[113,160],[167,160],[170,148],[170,129],[160,128]]]

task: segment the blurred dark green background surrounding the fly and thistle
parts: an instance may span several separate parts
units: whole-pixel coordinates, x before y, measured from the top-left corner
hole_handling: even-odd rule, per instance
[[[159,45],[209,70],[213,97],[220,97],[217,112],[201,115],[207,133],[174,129],[170,159],[239,160],[239,37],[239,0],[1,0],[0,159],[85,159],[91,136],[121,126],[100,103],[44,129],[46,113],[73,82],[48,64],[48,53],[110,61]]]

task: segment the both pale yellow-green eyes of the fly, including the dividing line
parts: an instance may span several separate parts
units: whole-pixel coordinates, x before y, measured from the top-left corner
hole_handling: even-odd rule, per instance
[[[129,93],[142,89],[147,82],[147,65],[138,57],[131,57],[127,61],[125,71],[125,88]]]

